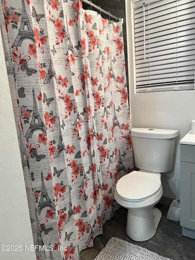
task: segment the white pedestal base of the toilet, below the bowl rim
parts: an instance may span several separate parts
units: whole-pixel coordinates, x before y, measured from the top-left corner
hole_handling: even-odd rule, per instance
[[[152,238],[158,228],[162,214],[158,208],[129,208],[126,233],[135,241]]]

